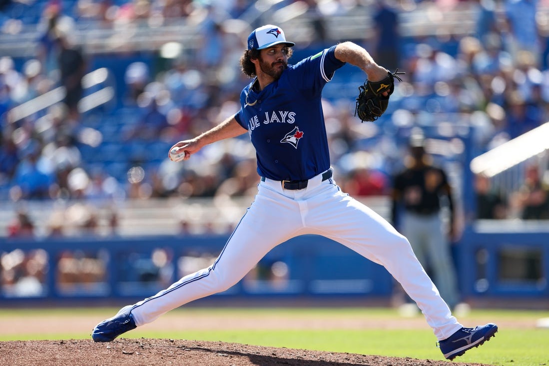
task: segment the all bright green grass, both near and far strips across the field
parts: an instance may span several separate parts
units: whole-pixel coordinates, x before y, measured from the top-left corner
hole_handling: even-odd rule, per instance
[[[24,317],[26,319],[58,318],[68,313],[71,316],[92,316],[99,320],[117,309],[0,309],[0,324],[4,319]],[[173,311],[166,316],[232,316],[232,317],[280,317],[300,318],[349,318],[353,316],[394,321],[399,318],[395,309],[384,308],[186,308]],[[422,316],[418,315],[418,319]],[[549,329],[524,328],[521,324],[532,324],[536,319],[549,317],[549,311],[507,311],[475,310],[460,317],[466,325],[493,321],[507,322],[500,325],[496,337],[478,349],[457,358],[458,363],[485,363],[501,366],[542,366],[549,365]],[[180,318],[181,319],[181,318]],[[262,329],[261,324],[253,330],[177,330],[158,331],[136,329],[127,337],[173,338],[204,341],[225,341],[240,344],[263,345],[272,347],[301,348],[330,352],[349,352],[360,354],[378,354],[381,356],[413,357],[420,359],[441,359],[441,353],[435,347],[432,331],[425,326],[422,329]],[[32,329],[22,329],[18,334],[6,335],[0,326],[0,340],[32,339],[89,339],[88,331],[59,329],[58,332],[36,334]],[[456,363],[454,362],[454,363]]]

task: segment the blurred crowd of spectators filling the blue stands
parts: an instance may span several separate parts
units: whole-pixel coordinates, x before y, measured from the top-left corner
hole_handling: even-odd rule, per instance
[[[401,167],[406,151],[402,142],[414,127],[439,137],[450,129],[447,136],[460,137],[456,131],[465,123],[470,128],[468,148],[478,155],[548,120],[549,37],[544,27],[547,13],[542,12],[548,4],[544,1],[307,0],[273,6],[282,9],[295,3],[312,22],[315,32],[310,45],[315,47],[335,43],[329,37],[329,16],[368,8],[374,32],[354,41],[365,46],[379,64],[406,71],[392,98],[392,110],[376,124],[357,123],[354,100],[330,97],[323,101],[336,179],[351,195],[389,193],[391,177]],[[9,6],[10,2],[2,5],[4,9]],[[400,34],[399,14],[419,6],[438,12],[467,9],[475,16],[476,27],[467,35]],[[254,7],[256,2],[247,0],[44,2],[36,57],[20,67],[9,55],[0,58],[0,199],[97,202],[253,195],[259,177],[247,135],[206,147],[186,164],[165,157],[171,144],[196,136],[238,110],[238,95],[249,82],[238,64],[249,29],[231,30],[236,23],[227,20],[242,19]],[[92,71],[92,56],[73,42],[71,27],[81,21],[168,18],[186,18],[197,24],[199,46],[182,51],[177,44],[169,44],[159,50],[161,66],[141,61],[128,65],[125,86],[119,88],[124,90],[120,105],[83,112],[79,102],[85,95],[83,78]],[[0,19],[4,30],[10,20]],[[12,119],[15,106],[60,86],[66,91],[60,103]],[[111,125],[120,127],[110,134],[101,132],[97,122],[107,117]],[[153,160],[122,157],[121,179],[97,161],[90,162],[90,151],[93,155],[97,150],[89,148],[100,148],[105,141],[120,147],[141,144],[144,155],[152,155],[153,147],[160,144],[164,152],[161,159]],[[120,164],[116,155],[123,151],[116,150],[110,159]],[[463,154],[459,148],[453,155],[427,152],[438,156],[441,164],[462,160],[458,155]],[[478,217],[549,218],[546,163],[529,165],[518,192],[502,193],[500,187],[490,187],[490,178],[478,177]],[[533,205],[537,208],[531,210]],[[115,210],[107,216],[114,228]],[[93,215],[86,217],[81,226],[93,227]],[[25,212],[18,212],[7,234],[24,236],[29,227]],[[62,232],[52,226],[50,234]]]

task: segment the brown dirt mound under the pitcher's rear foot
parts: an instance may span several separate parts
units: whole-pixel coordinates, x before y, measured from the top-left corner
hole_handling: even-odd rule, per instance
[[[2,365],[448,366],[445,361],[293,350],[225,342],[118,339],[0,342]],[[465,364],[461,364],[465,366]],[[470,363],[469,366],[480,364]]]

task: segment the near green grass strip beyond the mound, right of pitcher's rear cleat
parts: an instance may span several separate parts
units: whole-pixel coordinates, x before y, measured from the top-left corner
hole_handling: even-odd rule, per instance
[[[137,335],[137,334],[136,334]],[[166,337],[165,333],[141,333],[144,337]],[[225,341],[240,344],[288,347],[330,352],[378,354],[380,356],[441,359],[429,331],[418,330],[256,330],[178,332],[168,338]],[[529,341],[526,341],[528,340]],[[549,332],[542,330],[498,332],[495,339],[469,351],[455,362],[492,365],[538,366],[549,364]]]

